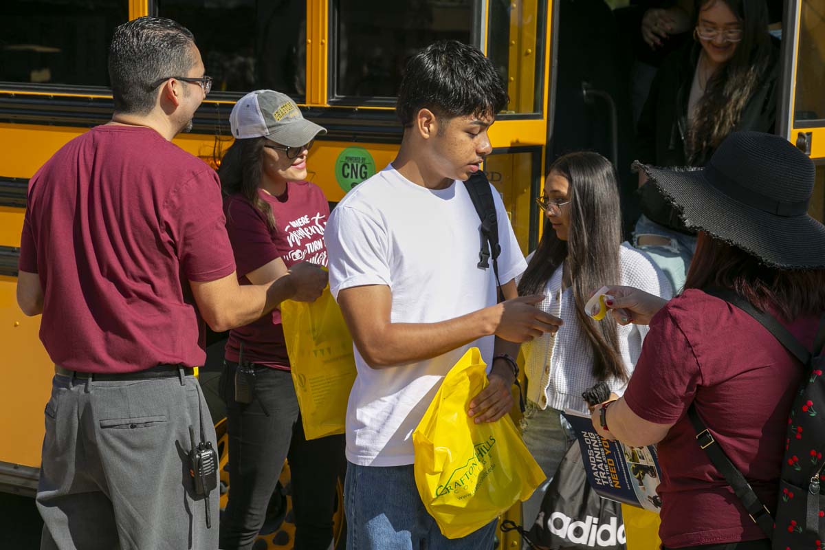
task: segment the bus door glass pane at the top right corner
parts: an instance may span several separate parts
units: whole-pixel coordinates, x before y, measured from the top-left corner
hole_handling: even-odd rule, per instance
[[[802,2],[798,55],[794,122],[825,120],[825,11],[820,0]]]

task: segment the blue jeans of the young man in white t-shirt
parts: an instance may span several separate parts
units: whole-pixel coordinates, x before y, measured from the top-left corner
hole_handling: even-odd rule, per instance
[[[492,550],[497,521],[463,538],[441,534],[424,508],[413,465],[347,464],[348,550]]]

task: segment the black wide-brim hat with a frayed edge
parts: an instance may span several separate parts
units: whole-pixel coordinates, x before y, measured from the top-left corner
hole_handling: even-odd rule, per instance
[[[634,163],[689,228],[781,269],[825,268],[825,226],[808,215],[816,168],[773,134],[734,132],[690,172]]]

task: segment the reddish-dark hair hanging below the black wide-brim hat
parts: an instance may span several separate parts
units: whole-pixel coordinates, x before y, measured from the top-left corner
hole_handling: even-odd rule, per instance
[[[700,232],[686,289],[731,289],[762,311],[785,321],[825,313],[825,270],[782,270],[708,233]]]

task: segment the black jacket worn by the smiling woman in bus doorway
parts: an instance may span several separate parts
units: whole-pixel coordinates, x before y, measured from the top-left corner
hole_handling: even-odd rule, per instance
[[[779,44],[772,40],[771,61],[764,78],[747,102],[734,131],[773,132],[776,120],[777,81],[779,78]],[[705,151],[688,162],[686,151],[687,101],[699,59],[700,45],[692,43],[675,52],[659,68],[650,87],[648,100],[639,118],[637,157],[645,164],[658,167],[705,166],[713,151]],[[640,190],[642,212],[668,228],[691,233],[678,215],[667,205],[654,186]]]

